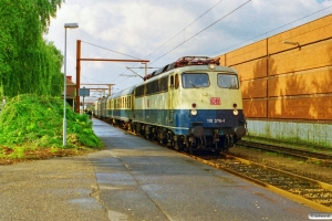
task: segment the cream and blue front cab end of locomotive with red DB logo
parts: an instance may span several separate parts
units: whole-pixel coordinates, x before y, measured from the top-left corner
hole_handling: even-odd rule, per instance
[[[172,74],[168,106],[174,134],[185,148],[227,150],[246,135],[237,72],[199,65]],[[170,76],[172,77],[172,76]],[[178,82],[178,86],[176,86]]]

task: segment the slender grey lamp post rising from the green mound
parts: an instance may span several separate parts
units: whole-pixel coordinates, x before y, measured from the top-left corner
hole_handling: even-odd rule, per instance
[[[65,105],[66,105],[66,29],[76,29],[77,23],[64,23],[64,83],[63,83],[63,146],[66,146],[66,117],[65,117]]]

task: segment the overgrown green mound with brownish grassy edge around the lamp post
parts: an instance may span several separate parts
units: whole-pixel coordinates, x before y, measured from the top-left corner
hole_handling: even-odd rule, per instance
[[[85,155],[103,148],[86,115],[66,108],[66,146],[63,140],[63,101],[19,95],[0,112],[0,165]]]

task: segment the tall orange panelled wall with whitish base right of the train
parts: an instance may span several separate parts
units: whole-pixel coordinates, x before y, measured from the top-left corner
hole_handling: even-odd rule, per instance
[[[332,148],[332,15],[219,59],[239,72],[250,135]]]

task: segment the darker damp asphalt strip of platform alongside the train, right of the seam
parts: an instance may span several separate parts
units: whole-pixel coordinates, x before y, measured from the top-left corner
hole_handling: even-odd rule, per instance
[[[93,120],[89,156],[111,220],[309,220],[317,212],[226,171]]]

